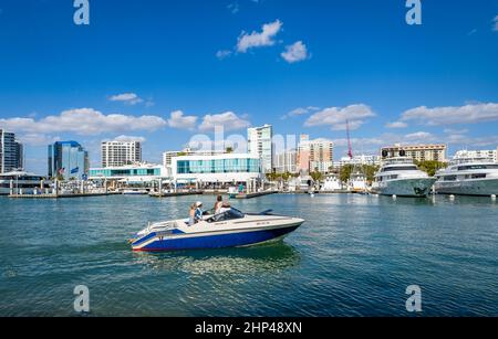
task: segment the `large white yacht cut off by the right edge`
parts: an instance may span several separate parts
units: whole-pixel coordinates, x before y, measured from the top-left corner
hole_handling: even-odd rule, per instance
[[[498,163],[488,158],[455,158],[436,178],[440,194],[498,195]]]

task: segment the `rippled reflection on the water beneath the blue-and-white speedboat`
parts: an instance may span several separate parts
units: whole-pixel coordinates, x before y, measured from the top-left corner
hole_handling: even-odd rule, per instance
[[[153,271],[180,271],[194,275],[274,273],[301,262],[300,253],[284,242],[239,248],[134,253],[134,258]]]

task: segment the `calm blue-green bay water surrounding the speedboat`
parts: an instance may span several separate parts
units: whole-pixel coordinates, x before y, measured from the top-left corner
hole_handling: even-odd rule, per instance
[[[236,201],[307,222],[283,242],[216,251],[133,253],[148,221],[183,218],[195,200],[0,198],[0,316],[498,316],[498,202],[270,195]]]

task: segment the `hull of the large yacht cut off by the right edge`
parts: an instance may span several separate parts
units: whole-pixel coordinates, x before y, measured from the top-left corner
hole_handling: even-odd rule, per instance
[[[435,188],[439,194],[490,197],[498,195],[498,179],[437,181]]]

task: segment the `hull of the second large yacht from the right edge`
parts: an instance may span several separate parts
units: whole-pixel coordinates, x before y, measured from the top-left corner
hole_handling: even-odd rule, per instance
[[[424,198],[430,193],[434,182],[436,182],[434,178],[391,180],[380,182],[375,192],[381,195]]]

